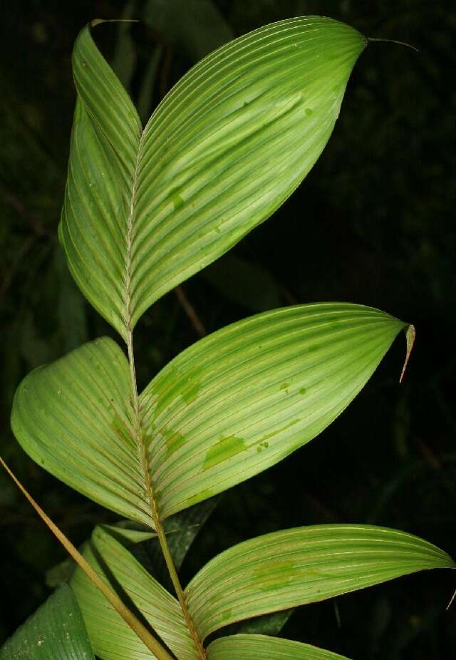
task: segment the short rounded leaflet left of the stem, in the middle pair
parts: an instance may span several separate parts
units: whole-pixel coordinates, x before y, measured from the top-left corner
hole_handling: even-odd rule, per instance
[[[28,455],[95,502],[153,527],[118,344],[97,339],[39,367],[16,391],[11,426]]]

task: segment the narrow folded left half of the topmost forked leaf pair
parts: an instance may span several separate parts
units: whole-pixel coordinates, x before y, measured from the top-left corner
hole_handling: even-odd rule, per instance
[[[142,127],[89,27],[73,49],[78,97],[58,228],[83,294],[126,338],[135,169]]]

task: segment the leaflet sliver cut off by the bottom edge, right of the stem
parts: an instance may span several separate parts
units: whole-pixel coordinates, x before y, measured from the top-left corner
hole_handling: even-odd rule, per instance
[[[299,641],[265,635],[232,635],[209,644],[208,660],[348,660]]]

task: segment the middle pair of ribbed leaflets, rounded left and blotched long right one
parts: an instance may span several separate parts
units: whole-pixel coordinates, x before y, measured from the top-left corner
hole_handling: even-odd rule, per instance
[[[165,366],[140,420],[123,351],[98,339],[26,376],[11,426],[43,468],[154,527],[151,488],[164,519],[274,465],[346,408],[405,327],[352,304],[251,316]]]

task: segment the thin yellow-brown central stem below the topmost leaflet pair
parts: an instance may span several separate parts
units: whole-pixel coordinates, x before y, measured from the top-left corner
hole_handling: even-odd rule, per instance
[[[128,329],[127,347],[128,347],[128,361],[130,363],[131,396],[132,396],[133,410],[135,412],[136,443],[138,445],[138,449],[140,450],[142,470],[144,473],[145,485],[147,489],[147,497],[150,504],[152,519],[155,525],[155,531],[157,532],[157,537],[160,542],[160,547],[162,549],[163,557],[165,557],[167,569],[170,573],[171,581],[173,587],[175,588],[177,599],[179,600],[180,607],[182,609],[182,614],[184,615],[187,628],[189,629],[190,632],[190,636],[192,637],[192,640],[195,644],[198,657],[200,660],[207,660],[206,651],[204,650],[204,646],[202,645],[201,639],[199,639],[197,629],[195,628],[195,624],[193,623],[192,616],[188,610],[187,599],[185,598],[184,590],[182,589],[179,576],[177,575],[177,570],[174,564],[174,560],[172,559],[170,547],[167,544],[165,530],[163,529],[162,523],[160,521],[160,515],[158,514],[158,509],[157,509],[157,502],[155,501],[155,495],[152,489],[152,483],[150,481],[147,450],[145,447],[145,443],[142,441],[138,386],[136,385],[135,354],[133,352],[133,332],[130,329]]]

